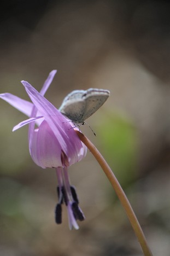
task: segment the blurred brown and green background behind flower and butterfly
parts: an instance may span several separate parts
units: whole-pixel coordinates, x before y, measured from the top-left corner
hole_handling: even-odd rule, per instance
[[[170,251],[169,1],[3,1],[0,93],[28,100],[20,83],[57,108],[74,89],[110,90],[81,131],[101,151],[136,212],[156,256]],[[113,188],[90,154],[69,168],[86,219],[56,225],[55,171],[36,166],[26,117],[0,101],[0,252],[2,256],[143,255]]]

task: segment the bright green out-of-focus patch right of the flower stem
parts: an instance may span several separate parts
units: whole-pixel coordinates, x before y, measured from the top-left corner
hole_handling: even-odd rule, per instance
[[[98,129],[101,152],[120,184],[126,187],[136,178],[136,129],[129,119],[115,113],[105,113]]]

